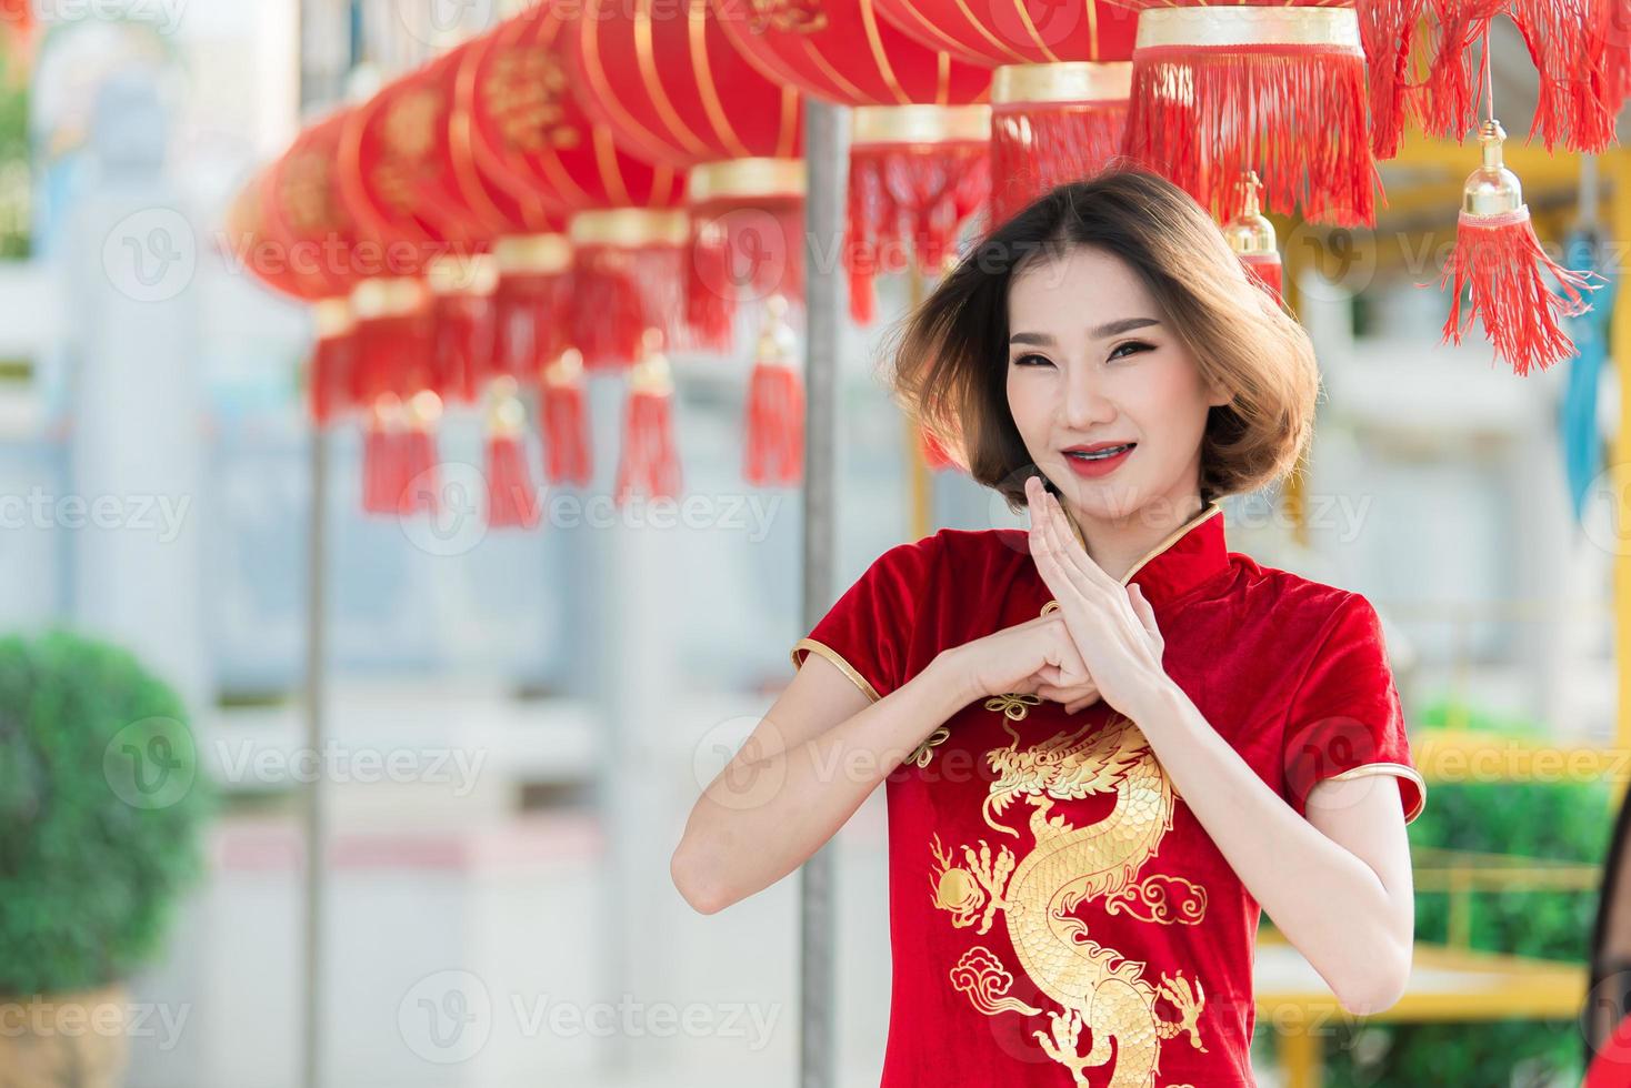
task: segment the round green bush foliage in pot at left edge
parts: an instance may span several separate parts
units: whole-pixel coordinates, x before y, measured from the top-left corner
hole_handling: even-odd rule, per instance
[[[157,954],[214,805],[179,697],[134,655],[0,638],[0,995],[122,982]]]

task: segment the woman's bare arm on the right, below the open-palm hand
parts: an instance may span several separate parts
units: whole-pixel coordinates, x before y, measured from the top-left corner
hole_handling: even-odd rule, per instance
[[[1409,842],[1391,775],[1323,780],[1300,816],[1161,678],[1130,713],[1246,891],[1354,1015],[1399,1000],[1416,928]]]

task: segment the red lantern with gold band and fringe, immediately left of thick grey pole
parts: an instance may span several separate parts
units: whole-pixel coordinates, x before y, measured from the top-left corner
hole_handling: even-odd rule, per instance
[[[804,293],[802,109],[731,46],[708,0],[589,0],[571,60],[584,109],[620,147],[687,168],[687,322],[724,347],[742,300]]]

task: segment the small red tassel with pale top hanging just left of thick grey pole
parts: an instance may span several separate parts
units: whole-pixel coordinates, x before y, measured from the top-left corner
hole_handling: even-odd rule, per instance
[[[804,376],[781,296],[765,305],[754,373],[747,384],[747,458],[755,487],[796,487],[804,479]]]

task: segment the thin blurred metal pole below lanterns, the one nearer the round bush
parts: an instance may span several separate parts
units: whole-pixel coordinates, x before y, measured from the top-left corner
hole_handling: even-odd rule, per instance
[[[325,603],[328,552],[328,428],[312,420],[312,508],[307,515],[307,682],[305,682],[305,741],[312,752],[323,751],[323,689],[325,689]],[[305,1070],[300,1083],[305,1088],[321,1085],[323,1054],[323,889],[326,865],[323,863],[325,811],[323,775],[313,775],[303,790],[305,816],[305,948],[302,963],[302,1049]]]

